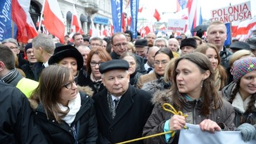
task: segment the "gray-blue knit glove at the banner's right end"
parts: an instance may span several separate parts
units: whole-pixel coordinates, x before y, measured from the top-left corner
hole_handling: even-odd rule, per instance
[[[243,123],[242,125],[238,126],[236,131],[241,131],[243,141],[250,141],[256,135],[256,129],[253,125],[248,123]]]

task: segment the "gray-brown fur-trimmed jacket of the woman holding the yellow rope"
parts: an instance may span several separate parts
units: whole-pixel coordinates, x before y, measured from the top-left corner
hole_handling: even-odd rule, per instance
[[[185,97],[180,97],[180,101],[183,101],[183,108],[180,109],[180,111],[183,112],[183,114],[188,114],[186,123],[197,125],[204,119],[210,119],[221,126],[222,130],[232,131],[236,129],[233,123],[233,119],[235,117],[234,109],[231,104],[224,99],[222,101],[222,107],[219,109],[210,109],[210,115],[207,117],[201,114],[203,104],[202,100],[188,101],[185,99]],[[164,132],[165,122],[173,116],[172,113],[162,109],[162,104],[164,103],[173,105],[170,90],[155,92],[152,102],[155,104],[155,107],[143,128],[143,136]],[[170,138],[168,142],[166,142],[164,135],[161,135],[146,139],[144,140],[144,143],[178,143],[179,135],[180,131],[177,131],[173,138]]]

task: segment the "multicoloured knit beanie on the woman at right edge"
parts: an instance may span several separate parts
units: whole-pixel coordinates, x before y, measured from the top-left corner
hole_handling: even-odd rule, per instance
[[[249,72],[256,70],[256,57],[250,58],[243,58],[240,60],[236,60],[233,64],[233,77],[234,81],[237,82],[238,80],[246,75]]]

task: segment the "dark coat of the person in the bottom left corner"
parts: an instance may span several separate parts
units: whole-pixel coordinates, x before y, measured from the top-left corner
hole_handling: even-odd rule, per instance
[[[47,143],[27,97],[15,87],[0,82],[0,143]]]

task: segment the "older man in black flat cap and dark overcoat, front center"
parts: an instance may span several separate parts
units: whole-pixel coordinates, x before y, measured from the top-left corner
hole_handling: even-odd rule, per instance
[[[99,143],[118,143],[141,137],[152,112],[151,94],[129,84],[129,67],[126,60],[110,60],[99,66],[106,87],[93,96]]]

